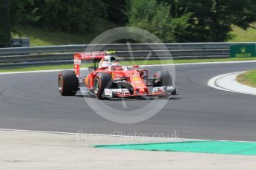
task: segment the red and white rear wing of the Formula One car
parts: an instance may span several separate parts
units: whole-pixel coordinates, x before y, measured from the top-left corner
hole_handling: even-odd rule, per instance
[[[108,54],[116,53],[115,51],[104,51],[104,52],[78,52],[73,55],[73,64],[76,72],[76,76],[80,75],[80,67],[82,60],[101,60]]]

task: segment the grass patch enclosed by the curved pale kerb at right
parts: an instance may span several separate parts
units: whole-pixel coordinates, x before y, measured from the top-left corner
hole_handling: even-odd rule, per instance
[[[256,70],[245,72],[237,76],[237,81],[240,84],[256,87]]]

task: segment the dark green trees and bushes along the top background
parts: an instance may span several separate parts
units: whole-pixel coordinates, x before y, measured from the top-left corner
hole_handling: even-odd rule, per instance
[[[226,41],[256,21],[254,0],[10,0],[12,25],[88,33],[101,21],[140,27],[164,42]]]

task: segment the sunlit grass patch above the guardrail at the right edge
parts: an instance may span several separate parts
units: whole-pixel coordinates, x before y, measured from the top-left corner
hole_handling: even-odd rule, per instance
[[[233,26],[231,35],[233,38],[229,42],[255,42],[256,41],[256,23],[251,24],[247,30]]]

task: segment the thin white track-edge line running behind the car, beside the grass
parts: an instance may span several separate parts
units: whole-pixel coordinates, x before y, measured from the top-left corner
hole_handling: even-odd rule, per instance
[[[256,61],[221,61],[221,62],[185,63],[185,64],[152,64],[152,65],[140,65],[140,67],[186,66],[186,65],[203,65],[203,64],[241,64],[241,63],[256,63]],[[63,70],[73,70],[73,69],[47,69],[47,70],[23,71],[23,72],[0,72],[0,75],[37,73],[37,72],[59,72]],[[86,70],[86,69],[82,69],[82,70]]]

